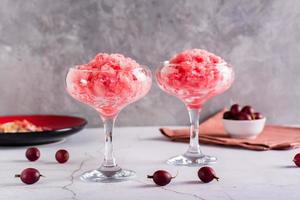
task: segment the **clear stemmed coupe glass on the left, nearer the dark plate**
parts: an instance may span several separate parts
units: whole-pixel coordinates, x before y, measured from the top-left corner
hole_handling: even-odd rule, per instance
[[[81,176],[91,182],[114,182],[135,176],[132,170],[122,169],[113,155],[112,135],[118,113],[127,105],[144,97],[152,83],[151,71],[140,66],[134,69],[86,70],[70,68],[66,85],[68,93],[76,100],[98,111],[105,132],[104,161],[94,170]]]

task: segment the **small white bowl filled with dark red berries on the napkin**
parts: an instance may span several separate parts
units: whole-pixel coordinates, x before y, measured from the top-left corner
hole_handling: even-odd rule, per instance
[[[266,118],[251,106],[234,104],[223,114],[223,125],[230,137],[256,138],[264,129]]]

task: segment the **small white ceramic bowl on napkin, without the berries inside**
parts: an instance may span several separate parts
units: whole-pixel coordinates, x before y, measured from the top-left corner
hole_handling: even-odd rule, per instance
[[[223,125],[230,137],[256,138],[264,129],[266,118],[256,120],[223,119]]]

